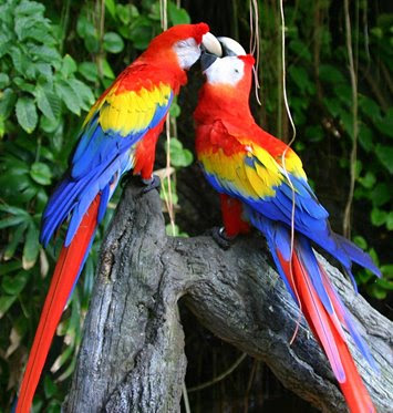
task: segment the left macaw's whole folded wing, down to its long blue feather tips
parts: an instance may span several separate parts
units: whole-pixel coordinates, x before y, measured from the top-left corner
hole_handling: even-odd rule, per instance
[[[130,78],[133,73],[128,70],[126,79],[121,75],[90,111],[70,169],[46,205],[43,245],[72,214],[64,242],[68,246],[99,192],[102,218],[121,175],[134,166],[135,144],[166,115],[173,100],[170,86],[146,81],[141,70],[134,74],[135,79]]]

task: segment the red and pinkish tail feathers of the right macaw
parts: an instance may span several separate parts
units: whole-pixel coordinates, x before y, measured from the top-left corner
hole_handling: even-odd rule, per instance
[[[311,278],[297,256],[289,262],[277,251],[281,267],[296,291],[302,312],[316,338],[322,344],[351,413],[373,413],[375,407],[358,372],[353,358],[341,331],[338,330],[337,314],[329,314],[312,286]],[[329,290],[328,290],[329,293]],[[330,296],[330,295],[329,295]],[[330,297],[333,307],[334,300]],[[340,329],[341,330],[341,329]]]

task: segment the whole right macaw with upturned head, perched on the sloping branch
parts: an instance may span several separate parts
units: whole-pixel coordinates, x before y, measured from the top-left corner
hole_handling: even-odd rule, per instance
[[[231,39],[220,41],[224,58],[201,55],[206,83],[194,114],[197,157],[220,194],[225,227],[216,237],[228,240],[247,233],[250,225],[263,234],[278,272],[324,349],[351,412],[375,412],[342,326],[376,369],[375,362],[312,245],[339,260],[352,280],[352,262],[378,276],[380,270],[360,248],[331,230],[329,215],[309,186],[298,155],[256,124],[248,103],[254,58]]]

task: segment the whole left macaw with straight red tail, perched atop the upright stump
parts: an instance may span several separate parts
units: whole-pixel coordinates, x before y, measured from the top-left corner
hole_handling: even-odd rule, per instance
[[[51,196],[42,220],[41,242],[69,218],[64,246],[44,302],[22,380],[18,413],[28,413],[48,351],[120,177],[130,169],[148,188],[155,146],[174,96],[200,55],[220,45],[205,23],[170,28],[102,94],[87,114],[70,168]]]

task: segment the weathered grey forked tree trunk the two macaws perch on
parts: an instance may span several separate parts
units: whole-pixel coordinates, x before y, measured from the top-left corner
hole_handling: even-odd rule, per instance
[[[101,266],[64,412],[177,412],[185,376],[177,301],[221,339],[262,359],[279,380],[322,411],[345,411],[330,366],[271,269],[260,236],[224,251],[210,237],[165,235],[156,192],[126,187],[102,248]],[[323,258],[321,257],[323,260]],[[393,405],[392,323],[355,296],[323,260],[380,366],[356,350],[379,412]]]

